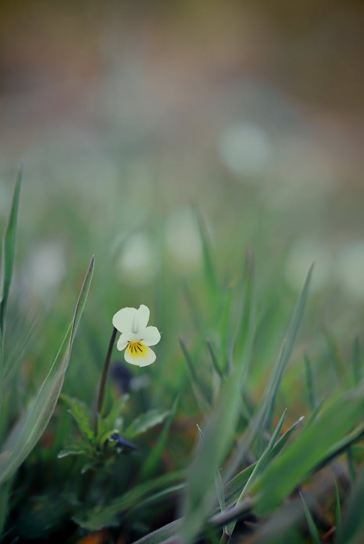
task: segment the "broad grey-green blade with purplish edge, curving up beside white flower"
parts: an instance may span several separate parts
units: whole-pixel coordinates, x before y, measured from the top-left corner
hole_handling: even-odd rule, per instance
[[[52,416],[60,390],[63,385],[64,374],[68,367],[72,343],[80,323],[81,314],[86,302],[92,273],[94,257],[92,257],[86,277],[84,279],[76,310],[68,332],[63,339],[52,367],[41,386],[33,404],[25,416],[16,425],[14,432],[5,442],[0,455],[0,484],[7,481],[21,463],[31,453],[38,442]]]

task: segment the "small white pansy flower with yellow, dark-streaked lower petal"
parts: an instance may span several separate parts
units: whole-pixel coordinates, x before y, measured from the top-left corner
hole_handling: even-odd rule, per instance
[[[141,304],[138,308],[122,308],[112,318],[112,324],[121,332],[116,344],[119,351],[125,349],[125,361],[146,367],[155,361],[156,355],[150,345],[157,344],[161,335],[157,327],[147,327],[149,308]]]

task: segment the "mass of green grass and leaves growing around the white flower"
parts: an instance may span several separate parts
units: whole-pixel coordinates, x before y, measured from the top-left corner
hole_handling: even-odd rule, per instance
[[[39,329],[17,298],[8,297],[20,179],[21,172],[4,234],[0,301],[1,425],[7,436],[0,455],[4,542],[18,537],[57,541],[62,530],[64,541],[77,542],[88,531],[102,529],[110,541],[138,544],[168,539],[227,544],[233,531],[236,541],[241,536],[264,544],[305,542],[309,531],[311,541],[318,542],[327,530],[323,511],[329,520],[335,514],[338,544],[360,542],[360,339],[341,348],[326,327],[329,349],[322,348],[323,335],[313,319],[319,298],[314,295],[307,305],[312,267],[289,321],[296,295],[282,280],[280,263],[267,264],[266,271],[265,263],[259,264],[256,270],[248,249],[241,267],[236,240],[234,258],[228,258],[229,248],[220,246],[220,254],[215,238],[212,251],[207,225],[196,211],[201,270],[181,281],[160,251],[155,285],[127,287],[113,271],[116,253],[105,243],[114,233],[100,225],[91,239],[68,203],[63,213],[75,250],[70,285],[81,283],[81,259],[94,245],[102,266],[77,343],[93,260],[49,369],[48,353],[59,341],[72,292],[54,302],[52,319],[41,321]],[[63,224],[64,217],[58,219]],[[158,246],[159,221],[148,221]],[[257,263],[261,255],[258,247]],[[96,414],[94,396],[112,315],[144,302],[163,332],[157,360],[150,367],[131,367],[114,351],[106,409]],[[23,323],[28,326],[24,335],[18,332]],[[181,337],[185,341],[178,345]],[[23,351],[29,355],[18,373]],[[62,402],[54,410],[61,387]],[[19,413],[23,416],[13,426]],[[335,498],[327,477],[334,460]],[[330,484],[321,485],[323,479]],[[310,510],[299,497],[300,487],[310,497]]]

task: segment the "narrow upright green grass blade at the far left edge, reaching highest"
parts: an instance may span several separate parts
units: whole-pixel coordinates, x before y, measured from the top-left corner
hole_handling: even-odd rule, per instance
[[[3,238],[3,249],[1,259],[1,284],[0,284],[0,330],[4,338],[5,332],[5,315],[7,310],[8,296],[11,283],[11,275],[13,274],[13,261],[14,261],[14,249],[15,249],[15,233],[16,233],[16,218],[19,209],[19,197],[21,178],[23,174],[23,167],[17,174],[13,202],[11,202],[10,215],[8,224],[5,228]]]

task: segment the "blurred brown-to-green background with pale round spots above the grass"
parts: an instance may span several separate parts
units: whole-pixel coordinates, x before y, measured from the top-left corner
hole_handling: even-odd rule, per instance
[[[226,282],[251,245],[261,298],[269,286],[292,308],[315,261],[311,327],[361,331],[362,2],[1,12],[0,222],[23,162],[20,306],[43,321],[57,307],[64,327],[95,253],[90,330],[106,345],[111,314],[145,303],[168,331],[175,293],[202,273],[197,208]]]

